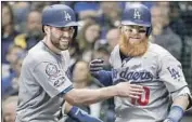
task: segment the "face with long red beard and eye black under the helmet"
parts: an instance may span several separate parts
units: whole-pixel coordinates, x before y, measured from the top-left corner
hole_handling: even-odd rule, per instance
[[[121,26],[120,51],[127,56],[141,56],[148,50],[146,27]]]

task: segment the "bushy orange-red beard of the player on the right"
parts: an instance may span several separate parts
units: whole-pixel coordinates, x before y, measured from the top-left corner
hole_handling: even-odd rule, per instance
[[[149,45],[148,38],[138,43],[131,44],[129,40],[126,38],[126,36],[121,35],[119,41],[120,52],[124,55],[131,57],[143,55],[148,50],[148,45]]]

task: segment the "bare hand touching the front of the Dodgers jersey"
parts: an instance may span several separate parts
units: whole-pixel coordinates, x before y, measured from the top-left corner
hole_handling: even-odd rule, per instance
[[[139,98],[143,93],[143,86],[137,84],[130,84],[129,82],[120,82],[115,85],[118,96]]]

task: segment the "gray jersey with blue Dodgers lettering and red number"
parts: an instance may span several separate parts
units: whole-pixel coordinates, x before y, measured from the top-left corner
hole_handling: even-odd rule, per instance
[[[158,122],[167,117],[171,99],[190,91],[180,63],[157,44],[149,43],[143,56],[120,59],[119,45],[111,54],[113,83],[141,84],[139,99],[115,97],[116,122]],[[180,92],[179,92],[180,91]]]

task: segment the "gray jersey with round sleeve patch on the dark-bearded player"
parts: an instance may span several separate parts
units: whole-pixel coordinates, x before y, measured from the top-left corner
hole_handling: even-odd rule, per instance
[[[29,50],[20,77],[15,122],[56,122],[63,95],[73,89],[67,78],[68,51],[57,55],[40,41]]]

